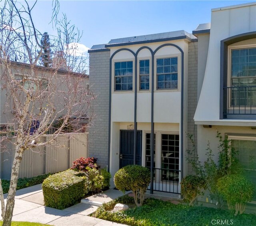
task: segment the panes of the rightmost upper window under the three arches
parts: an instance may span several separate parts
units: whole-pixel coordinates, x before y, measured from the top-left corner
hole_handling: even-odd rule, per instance
[[[178,89],[178,57],[156,60],[157,89]]]

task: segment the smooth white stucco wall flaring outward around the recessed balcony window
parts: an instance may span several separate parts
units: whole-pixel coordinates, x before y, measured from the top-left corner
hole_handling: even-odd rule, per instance
[[[220,121],[220,41],[230,36],[255,31],[255,9],[254,4],[212,11],[206,71],[195,121]]]

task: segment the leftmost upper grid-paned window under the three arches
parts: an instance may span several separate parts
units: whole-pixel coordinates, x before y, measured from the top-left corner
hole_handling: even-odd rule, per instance
[[[133,62],[115,62],[114,87],[115,91],[132,90]]]

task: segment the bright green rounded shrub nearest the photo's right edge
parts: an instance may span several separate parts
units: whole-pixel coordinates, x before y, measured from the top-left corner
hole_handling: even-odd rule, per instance
[[[218,179],[218,192],[228,202],[228,208],[235,208],[235,215],[242,214],[246,202],[252,200],[254,186],[245,176],[230,174]]]

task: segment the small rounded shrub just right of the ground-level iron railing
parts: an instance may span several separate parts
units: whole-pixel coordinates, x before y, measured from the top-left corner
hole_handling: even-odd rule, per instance
[[[204,178],[196,175],[188,175],[182,179],[181,194],[189,200],[189,205],[193,206],[199,195],[202,194],[201,188],[205,189]]]

